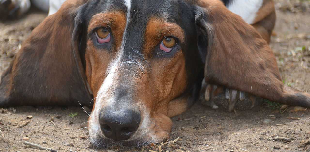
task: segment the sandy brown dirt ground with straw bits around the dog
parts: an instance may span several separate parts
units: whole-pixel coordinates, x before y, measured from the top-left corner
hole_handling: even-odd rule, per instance
[[[275,5],[277,23],[270,46],[284,83],[310,93],[310,2],[276,0]],[[46,16],[46,13],[31,11],[20,20],[0,22],[0,73]],[[162,150],[310,151],[310,111],[288,112],[290,108],[280,113],[263,105],[232,113],[223,108],[213,110],[197,102],[182,115],[172,118],[170,140],[178,137],[180,140],[169,148],[163,146]],[[69,117],[75,113],[78,115]],[[29,115],[33,118],[27,119]],[[59,151],[159,151],[158,143],[142,148],[96,150],[88,139],[87,123],[84,123],[87,119],[81,107],[2,108],[0,151],[42,151],[24,145],[25,137],[29,142]],[[27,121],[27,125],[19,127]]]

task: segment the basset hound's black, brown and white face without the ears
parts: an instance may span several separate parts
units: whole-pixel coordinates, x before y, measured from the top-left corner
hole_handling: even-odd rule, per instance
[[[203,69],[193,8],[126,0],[90,1],[85,9],[86,76],[95,97],[91,141],[141,146],[169,138],[169,117],[187,108]]]

